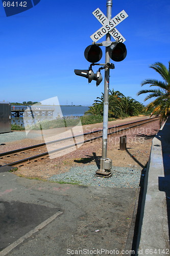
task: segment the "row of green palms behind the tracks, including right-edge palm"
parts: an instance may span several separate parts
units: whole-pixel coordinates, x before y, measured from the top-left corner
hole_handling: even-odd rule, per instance
[[[147,101],[151,98],[155,98],[147,106],[144,106],[139,101],[125,97],[123,93],[109,90],[109,117],[121,118],[126,116],[135,116],[142,112],[151,113],[160,117],[160,123],[165,121],[170,115],[170,61],[168,62],[168,69],[161,62],[156,62],[150,65],[150,68],[154,69],[160,74],[162,80],[157,79],[145,79],[141,82],[141,86],[150,84],[150,87],[156,87],[156,89],[140,90],[138,95],[149,93],[144,99]],[[91,115],[103,115],[104,94],[101,97],[97,97],[94,100],[92,106],[85,114]]]

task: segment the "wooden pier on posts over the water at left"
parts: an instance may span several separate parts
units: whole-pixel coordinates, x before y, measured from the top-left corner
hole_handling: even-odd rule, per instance
[[[23,109],[23,108],[12,108],[11,117],[23,117],[23,116],[53,116],[55,108],[37,108],[37,109]]]

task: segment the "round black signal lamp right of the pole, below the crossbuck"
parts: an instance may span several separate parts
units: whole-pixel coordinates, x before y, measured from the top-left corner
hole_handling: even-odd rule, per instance
[[[117,42],[109,47],[109,56],[114,61],[122,61],[126,58],[127,49],[123,42]]]

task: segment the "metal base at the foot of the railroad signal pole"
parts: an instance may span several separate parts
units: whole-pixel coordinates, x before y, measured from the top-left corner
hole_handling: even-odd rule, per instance
[[[112,160],[110,158],[101,158],[100,169],[96,170],[95,174],[99,177],[109,178],[112,176],[111,173]]]

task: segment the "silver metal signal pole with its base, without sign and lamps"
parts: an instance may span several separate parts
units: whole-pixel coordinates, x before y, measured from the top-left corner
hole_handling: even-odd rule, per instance
[[[111,19],[112,0],[107,0],[107,18]],[[110,41],[111,35],[106,34],[106,41]],[[109,47],[106,47],[105,63],[110,63],[108,53]],[[105,83],[104,83],[104,113],[103,113],[103,142],[102,142],[102,158],[100,160],[100,169],[96,171],[96,175],[110,177],[112,174],[112,160],[107,158],[107,132],[108,132],[108,110],[109,110],[109,77],[110,68],[105,67]]]

